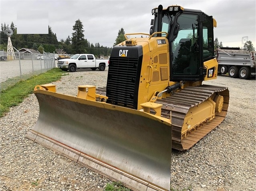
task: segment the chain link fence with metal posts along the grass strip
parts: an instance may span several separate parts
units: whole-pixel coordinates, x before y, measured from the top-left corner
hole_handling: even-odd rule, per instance
[[[15,53],[16,59],[0,61],[0,92],[20,80],[56,67],[53,53]]]

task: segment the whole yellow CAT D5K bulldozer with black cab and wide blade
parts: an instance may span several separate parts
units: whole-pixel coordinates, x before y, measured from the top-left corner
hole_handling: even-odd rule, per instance
[[[171,148],[194,146],[229,102],[227,87],[202,85],[217,78],[216,20],[177,5],[152,14],[149,34],[113,47],[106,87],[69,96],[37,85],[40,113],[26,135],[137,191],[169,190]]]

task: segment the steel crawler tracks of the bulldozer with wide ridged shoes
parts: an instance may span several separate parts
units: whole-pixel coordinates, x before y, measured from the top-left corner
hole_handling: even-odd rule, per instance
[[[106,95],[106,88],[98,88],[97,93]],[[224,97],[223,108],[220,113],[216,113],[212,120],[207,119],[198,126],[191,128],[185,134],[181,133],[183,122],[190,108],[198,106],[206,101],[213,94],[222,95]],[[180,92],[166,98],[158,99],[156,103],[163,104],[161,114],[168,118],[171,113],[172,123],[172,148],[176,150],[188,150],[194,146],[199,140],[216,128],[225,119],[228,102],[229,91],[227,87],[218,87],[212,85],[201,85],[198,87],[186,87]],[[153,113],[153,112],[152,112]]]

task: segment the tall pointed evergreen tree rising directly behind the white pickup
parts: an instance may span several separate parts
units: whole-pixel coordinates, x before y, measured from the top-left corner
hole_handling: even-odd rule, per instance
[[[83,24],[82,22],[78,19],[75,22],[75,25],[73,26],[73,33],[72,33],[72,49],[74,54],[81,54],[85,52],[85,35],[83,32]]]

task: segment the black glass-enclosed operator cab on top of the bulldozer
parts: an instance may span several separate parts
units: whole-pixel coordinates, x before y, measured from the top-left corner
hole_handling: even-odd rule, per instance
[[[152,10],[150,34],[169,41],[170,80],[201,81],[206,75],[204,62],[214,58],[213,27],[216,21],[201,10],[160,5]]]

